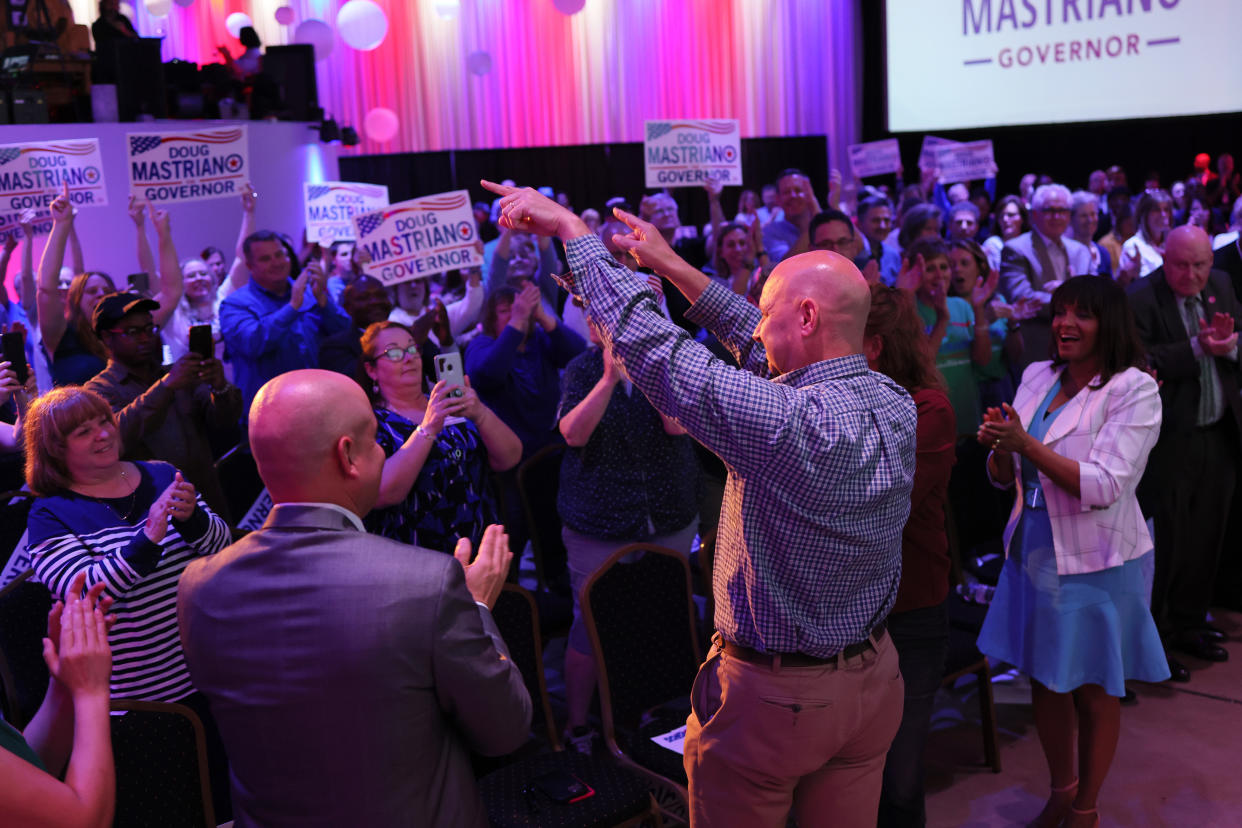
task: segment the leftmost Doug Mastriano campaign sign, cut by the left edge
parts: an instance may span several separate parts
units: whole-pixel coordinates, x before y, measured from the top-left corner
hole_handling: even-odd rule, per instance
[[[97,138],[0,146],[0,238],[21,232],[17,218],[27,210],[36,233],[51,230],[48,206],[66,184],[75,207],[108,205]]]

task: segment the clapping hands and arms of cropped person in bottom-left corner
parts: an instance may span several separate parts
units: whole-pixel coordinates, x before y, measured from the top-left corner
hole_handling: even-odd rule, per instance
[[[47,695],[19,734],[0,719],[0,821],[9,826],[98,828],[117,798],[108,724],[112,598],[73,577],[47,616]],[[61,781],[63,778],[63,781]]]

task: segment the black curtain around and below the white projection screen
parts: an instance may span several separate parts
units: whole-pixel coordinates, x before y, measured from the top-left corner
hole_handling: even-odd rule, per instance
[[[918,170],[923,134],[891,133],[887,124],[884,74],[884,4],[862,4],[863,140],[895,137],[902,146],[902,163],[913,178]],[[928,43],[935,48],[935,43]],[[1203,72],[1220,71],[1211,57],[1203,58]],[[1048,94],[1073,94],[1072,89]],[[1144,89],[1135,88],[1135,96]],[[986,101],[979,102],[986,107]],[[1222,107],[1242,107],[1240,101],[1222,101]],[[1086,189],[1092,170],[1120,164],[1129,178],[1130,190],[1140,192],[1149,171],[1160,175],[1167,189],[1190,175],[1196,153],[1215,159],[1231,153],[1242,163],[1242,114],[1194,115],[1100,120],[1082,124],[1036,127],[989,127],[936,132],[940,138],[970,142],[990,138],[996,151],[997,194],[1017,192],[1026,173],[1048,174],[1071,190]]]

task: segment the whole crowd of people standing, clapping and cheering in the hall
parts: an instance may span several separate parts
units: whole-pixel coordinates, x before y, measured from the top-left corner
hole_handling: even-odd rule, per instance
[[[248,186],[231,256],[181,258],[130,201],[128,286],[86,268],[67,191],[37,267],[24,216],[0,473],[58,603],[0,813],[111,813],[111,694],[199,714],[237,824],[484,824],[468,754],[532,710],[489,614],[534,531],[517,469],[561,446],[559,494],[525,494],[563,526],[573,750],[599,750],[582,585],[715,533],[692,821],[923,824],[948,525],[981,509],[953,493],[986,478],[1012,494],[979,647],[1031,678],[1033,824],[1097,824],[1125,682],[1226,660],[1210,607],[1242,608],[1240,176],[826,184],[785,170],[730,217],[709,182],[688,227],[667,191],[575,212],[484,181],[483,266],[388,287],[353,242],[257,227]],[[274,504],[243,538],[237,444]]]

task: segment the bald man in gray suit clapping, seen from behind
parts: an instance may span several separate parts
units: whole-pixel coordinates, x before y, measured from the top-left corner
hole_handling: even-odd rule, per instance
[[[330,401],[330,405],[325,405]],[[181,643],[229,752],[238,828],[486,826],[468,751],[507,754],[530,696],[492,621],[512,555],[369,535],[384,451],[356,382],[267,382],[250,442],[272,513],[178,588]]]

